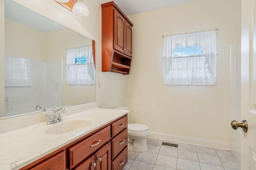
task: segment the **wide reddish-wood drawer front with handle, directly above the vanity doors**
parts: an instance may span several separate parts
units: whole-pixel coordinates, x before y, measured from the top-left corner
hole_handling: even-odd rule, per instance
[[[84,158],[102,147],[110,139],[110,126],[102,129],[98,133],[88,137],[84,141],[71,147],[69,150],[70,168],[80,163]]]

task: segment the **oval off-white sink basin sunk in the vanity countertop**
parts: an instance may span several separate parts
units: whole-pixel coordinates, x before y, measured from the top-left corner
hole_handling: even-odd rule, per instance
[[[60,124],[52,125],[49,129],[45,131],[46,134],[62,134],[62,133],[69,133],[73,131],[77,131],[79,129],[88,127],[92,124],[90,120],[74,120],[68,122],[60,122]],[[51,125],[48,125],[51,126]]]

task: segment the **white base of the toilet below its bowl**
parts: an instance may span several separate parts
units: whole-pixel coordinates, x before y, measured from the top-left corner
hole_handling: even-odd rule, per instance
[[[130,141],[130,142],[129,142]],[[148,151],[148,145],[146,139],[134,139],[129,140],[128,139],[128,150],[134,151],[134,152],[146,152]]]

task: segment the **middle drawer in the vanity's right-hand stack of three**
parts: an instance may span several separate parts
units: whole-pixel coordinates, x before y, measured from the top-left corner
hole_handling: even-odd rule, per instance
[[[127,128],[117,135],[112,140],[112,160],[126,147],[128,146],[128,131]]]

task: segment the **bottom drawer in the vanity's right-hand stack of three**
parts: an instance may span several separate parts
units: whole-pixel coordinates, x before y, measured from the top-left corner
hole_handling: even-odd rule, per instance
[[[120,155],[112,162],[112,170],[122,170],[128,162],[128,148],[126,147]]]

